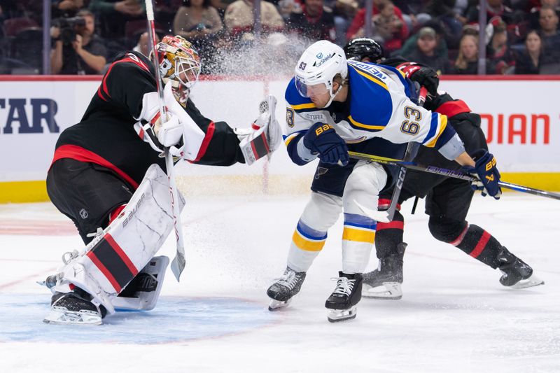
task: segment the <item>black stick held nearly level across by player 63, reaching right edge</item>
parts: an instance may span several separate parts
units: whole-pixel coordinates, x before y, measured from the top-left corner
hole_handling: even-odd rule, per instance
[[[428,172],[430,174],[437,174],[441,176],[447,176],[449,178],[459,178],[461,180],[470,181],[479,181],[479,178],[464,174],[461,171],[454,171],[451,169],[444,169],[442,167],[436,166],[424,166],[423,164],[418,164],[416,162],[406,162],[404,160],[395,160],[394,158],[386,158],[386,157],[378,157],[377,155],[365,154],[365,153],[356,153],[356,152],[348,152],[350,157],[355,160],[369,160],[372,162],[377,162],[381,164],[391,164],[393,166],[402,166],[406,167],[407,169],[414,169],[415,171],[423,171]],[[507,188],[511,190],[515,190],[517,192],[524,192],[530,195],[539,195],[541,197],[548,197],[552,199],[560,199],[560,194],[554,192],[547,192],[546,190],[528,188],[524,185],[514,184],[514,183],[507,183],[506,181],[498,181],[498,185],[502,188]]]

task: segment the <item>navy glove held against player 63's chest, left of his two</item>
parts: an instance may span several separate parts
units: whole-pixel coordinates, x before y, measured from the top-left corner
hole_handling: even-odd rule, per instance
[[[325,163],[346,166],[350,159],[346,142],[331,125],[321,122],[307,129],[303,136],[303,145],[311,150],[311,153],[318,153],[319,159]]]

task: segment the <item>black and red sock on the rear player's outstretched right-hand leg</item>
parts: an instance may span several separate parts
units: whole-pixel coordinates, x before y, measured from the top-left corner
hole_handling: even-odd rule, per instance
[[[461,236],[463,236],[462,239]],[[494,269],[499,265],[498,253],[500,253],[502,245],[478,225],[468,225],[464,235],[461,234],[451,244]]]

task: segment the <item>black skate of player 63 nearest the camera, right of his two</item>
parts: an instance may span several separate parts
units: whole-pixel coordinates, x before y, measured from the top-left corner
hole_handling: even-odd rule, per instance
[[[362,274],[345,274],[339,272],[337,286],[325,302],[325,307],[330,309],[328,321],[351,320],[356,318],[356,304],[362,297]]]

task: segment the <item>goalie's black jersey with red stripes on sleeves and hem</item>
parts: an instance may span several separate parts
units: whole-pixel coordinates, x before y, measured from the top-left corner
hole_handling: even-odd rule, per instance
[[[144,94],[155,90],[154,66],[148,58],[139,52],[118,55],[82,120],[60,134],[52,163],[72,158],[99,164],[134,190],[151,164],[156,163],[165,171],[165,159],[134,130]],[[205,134],[192,162],[216,166],[245,162],[237,134],[226,122],[213,122],[204,117],[190,99],[185,111]]]

